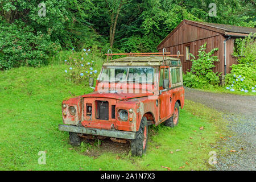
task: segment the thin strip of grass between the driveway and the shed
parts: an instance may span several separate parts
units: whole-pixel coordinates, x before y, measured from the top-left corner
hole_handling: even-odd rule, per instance
[[[236,94],[236,95],[241,95],[241,96],[256,96],[256,92],[241,92],[239,90],[235,90],[235,91],[230,91],[228,89],[226,89],[226,87],[217,87],[217,88],[207,88],[207,89],[197,89],[197,90],[201,90],[204,92],[212,92],[212,93],[230,93],[230,94]]]

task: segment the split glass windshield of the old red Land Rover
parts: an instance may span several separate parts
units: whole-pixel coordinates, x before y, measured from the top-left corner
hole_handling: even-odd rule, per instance
[[[153,67],[104,67],[99,81],[154,83]]]

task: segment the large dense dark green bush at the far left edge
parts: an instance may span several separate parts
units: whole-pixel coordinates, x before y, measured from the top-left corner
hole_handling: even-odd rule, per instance
[[[35,35],[34,29],[22,21],[11,24],[0,21],[0,69],[45,65],[49,56],[59,49],[59,44],[53,43],[49,34],[38,32]]]

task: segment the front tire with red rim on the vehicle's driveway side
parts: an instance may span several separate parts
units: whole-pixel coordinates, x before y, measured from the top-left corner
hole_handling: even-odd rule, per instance
[[[136,132],[136,138],[131,140],[131,154],[142,156],[146,152],[148,139],[148,126],[147,118],[141,119],[141,126],[139,131]]]

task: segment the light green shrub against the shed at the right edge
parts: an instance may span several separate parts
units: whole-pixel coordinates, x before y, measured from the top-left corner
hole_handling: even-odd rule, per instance
[[[237,45],[233,55],[238,57],[238,63],[254,65],[256,64],[256,33],[246,36],[244,39],[236,39]]]

